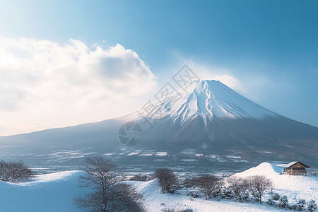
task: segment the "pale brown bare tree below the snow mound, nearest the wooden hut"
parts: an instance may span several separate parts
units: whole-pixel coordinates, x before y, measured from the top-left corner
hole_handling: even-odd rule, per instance
[[[273,187],[273,182],[264,175],[247,177],[247,181],[249,184],[249,192],[251,192],[254,197],[259,197],[261,204],[261,196],[263,196],[266,190],[270,190]]]

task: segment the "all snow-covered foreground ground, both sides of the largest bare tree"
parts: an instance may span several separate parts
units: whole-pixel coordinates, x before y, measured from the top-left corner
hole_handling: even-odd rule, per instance
[[[261,163],[245,172],[235,175],[266,175],[273,180],[274,191],[288,196],[288,201],[297,199],[318,201],[318,177],[278,175],[281,167],[270,163]],[[81,171],[58,172],[38,175],[32,182],[11,184],[0,182],[0,211],[86,211],[73,204],[73,198],[83,196],[88,189],[78,187]],[[163,194],[156,179],[148,182],[127,182],[143,194],[146,208],[151,212],[160,212],[163,208],[194,211],[282,211],[266,204],[240,203],[233,200],[192,199],[184,194]],[[264,201],[269,194],[265,195]]]

